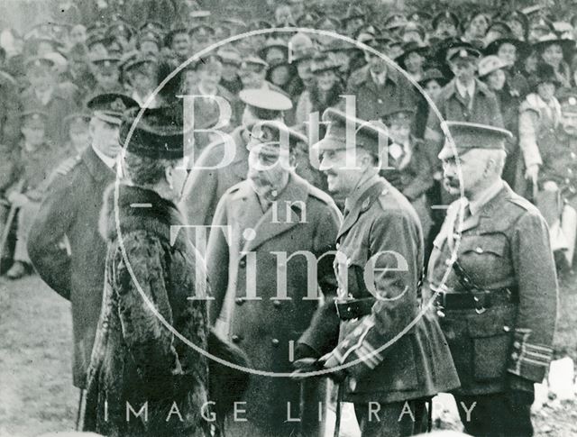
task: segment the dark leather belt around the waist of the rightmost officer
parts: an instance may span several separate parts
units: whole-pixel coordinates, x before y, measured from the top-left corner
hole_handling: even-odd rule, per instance
[[[510,288],[453,293],[439,291],[435,297],[435,305],[438,310],[437,314],[442,313],[443,310],[465,309],[474,309],[478,314],[482,314],[492,306],[507,305],[516,302],[516,294],[513,293]]]

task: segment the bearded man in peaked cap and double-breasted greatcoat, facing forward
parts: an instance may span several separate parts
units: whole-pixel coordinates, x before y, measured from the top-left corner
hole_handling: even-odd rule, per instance
[[[213,221],[230,226],[231,233],[213,227],[206,248],[215,296],[211,322],[246,352],[252,369],[276,373],[292,371],[291,345],[320,304],[317,290],[334,296],[334,256],[327,252],[334,250],[341,214],[330,196],[296,174],[298,142],[307,138],[282,122],[253,126],[246,180],[224,193]],[[308,285],[311,263],[317,263],[314,285]],[[283,283],[285,278],[289,283]],[[247,422],[232,421],[227,431],[235,436],[323,435],[325,390],[322,379],[305,381],[301,391],[289,378],[252,376],[242,399]]]

